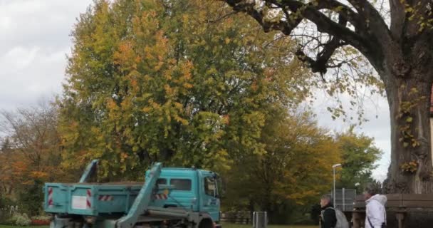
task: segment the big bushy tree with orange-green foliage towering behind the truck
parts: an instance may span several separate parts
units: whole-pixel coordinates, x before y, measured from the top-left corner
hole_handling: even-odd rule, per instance
[[[308,73],[290,38],[201,3],[95,1],[80,16],[59,100],[64,164],[99,158],[105,177],[136,179],[150,162],[224,170],[264,152],[268,107],[299,103]]]

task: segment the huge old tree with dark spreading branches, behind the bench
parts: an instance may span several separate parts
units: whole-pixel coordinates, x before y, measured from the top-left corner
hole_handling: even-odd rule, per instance
[[[433,191],[429,125],[432,1],[225,2],[235,12],[251,16],[265,32],[281,31],[281,36],[298,38],[298,57],[335,84],[347,81],[345,74],[326,73],[353,66],[348,48],[362,54],[380,76],[390,105],[392,154],[387,191]],[[358,81],[356,73],[352,76]],[[362,78],[359,81],[370,83]],[[352,87],[343,83],[338,90],[350,91]],[[402,172],[402,165],[408,162],[416,162],[416,172]]]

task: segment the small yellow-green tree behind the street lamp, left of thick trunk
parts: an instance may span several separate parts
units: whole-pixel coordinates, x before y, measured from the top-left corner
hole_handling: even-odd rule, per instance
[[[335,142],[340,147],[341,164],[343,169],[339,171],[337,188],[356,189],[362,192],[363,184],[373,182],[372,170],[377,167],[383,151],[376,147],[374,138],[364,134],[356,134],[353,128],[344,133],[338,133]],[[355,185],[359,183],[357,187]]]

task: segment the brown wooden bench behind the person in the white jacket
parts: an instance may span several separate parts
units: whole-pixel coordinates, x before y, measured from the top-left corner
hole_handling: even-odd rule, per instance
[[[433,209],[433,194],[389,194],[387,196],[387,214],[395,213],[398,228],[404,228],[404,221],[407,212],[422,212],[423,210]],[[353,227],[364,227],[365,222],[365,201],[362,195],[355,198],[353,203]],[[390,221],[390,217],[387,217]]]

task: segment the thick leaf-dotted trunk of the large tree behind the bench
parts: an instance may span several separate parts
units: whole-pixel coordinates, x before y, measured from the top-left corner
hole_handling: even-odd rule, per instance
[[[428,67],[428,66],[427,66]],[[385,81],[391,120],[391,164],[387,193],[432,193],[432,150],[428,77],[412,71]]]

